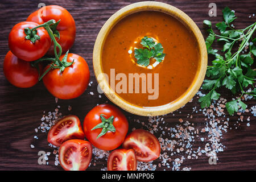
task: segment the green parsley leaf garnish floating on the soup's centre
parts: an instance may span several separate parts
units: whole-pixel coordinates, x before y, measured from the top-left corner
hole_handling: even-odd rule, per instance
[[[135,49],[134,51],[138,64],[147,67],[148,64],[150,64],[151,58],[154,58],[158,62],[162,62],[162,60],[164,60],[164,56],[166,56],[166,54],[163,53],[162,44],[156,44],[154,39],[148,38],[147,36],[144,36],[144,38],[141,39],[141,44],[145,48]]]

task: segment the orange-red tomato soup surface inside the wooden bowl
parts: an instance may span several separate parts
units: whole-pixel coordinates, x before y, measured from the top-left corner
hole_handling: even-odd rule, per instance
[[[149,67],[137,64],[134,50],[143,48],[141,40],[145,36],[162,44],[165,57],[158,65],[153,64],[157,62],[154,59],[150,59]],[[101,64],[109,83],[115,79],[112,89],[126,76],[123,84],[127,84],[127,92],[116,92],[123,100],[142,107],[162,106],[177,100],[191,86],[199,68],[199,53],[195,36],[179,20],[159,11],[141,11],[115,24],[105,39]],[[135,80],[134,88],[128,88],[129,74],[136,73],[143,73],[146,78],[151,74],[152,88],[158,86],[157,97],[149,99],[152,92],[143,92],[142,87],[149,84],[148,80],[143,80],[143,76],[139,78],[139,93],[136,92]],[[121,77],[118,74],[122,74]]]

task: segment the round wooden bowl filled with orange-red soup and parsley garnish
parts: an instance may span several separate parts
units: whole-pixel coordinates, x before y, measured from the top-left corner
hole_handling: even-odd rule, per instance
[[[113,14],[93,49],[98,85],[130,113],[155,116],[184,106],[199,90],[207,49],[195,22],[162,2],[138,2]]]

